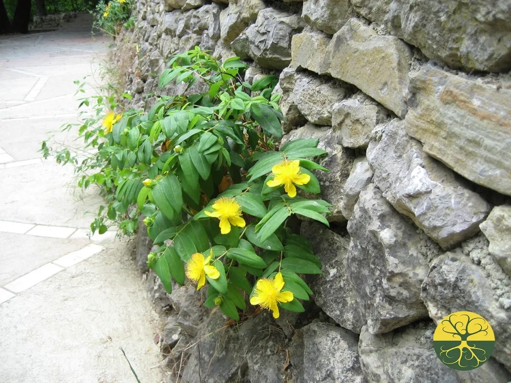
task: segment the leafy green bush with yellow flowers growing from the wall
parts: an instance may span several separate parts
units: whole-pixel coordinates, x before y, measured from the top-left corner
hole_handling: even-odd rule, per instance
[[[317,139],[276,150],[283,116],[279,96],[271,94],[273,76],[244,83],[246,65],[237,57],[221,64],[198,47],[169,66],[160,87],[175,80],[188,88],[201,82],[206,90],[162,97],[147,114],[102,109],[103,126],[91,122],[80,132],[98,149],[91,163],[102,164],[82,185],[109,181],[104,190],[115,201],[108,218],[133,228],[138,213],[146,217],[159,246],[147,263],[169,294],[171,279],[182,285],[188,277],[197,290],[206,286],[205,306],[219,306],[235,320],[246,309],[244,294],[275,318],[279,308],[302,312],[299,299],[308,300],[312,291],[299,274],[321,273],[321,262],[286,225],[292,214],[328,225],[327,202],[297,195],[297,188],[320,192],[310,170],[327,170],[310,158],[326,152]],[[101,214],[93,230],[105,226]]]

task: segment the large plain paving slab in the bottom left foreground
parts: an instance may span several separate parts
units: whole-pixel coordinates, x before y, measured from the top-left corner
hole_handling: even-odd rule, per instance
[[[142,382],[161,381],[157,316],[121,249],[96,254],[0,305],[0,381],[134,382],[119,347]]]

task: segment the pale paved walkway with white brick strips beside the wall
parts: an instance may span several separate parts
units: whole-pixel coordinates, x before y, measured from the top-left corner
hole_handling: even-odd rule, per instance
[[[109,41],[90,28],[81,15],[59,31],[0,36],[1,382],[135,382],[119,347],[143,383],[162,380],[157,316],[130,247],[115,233],[89,240],[102,200],[37,153],[76,121],[73,81],[98,77]]]

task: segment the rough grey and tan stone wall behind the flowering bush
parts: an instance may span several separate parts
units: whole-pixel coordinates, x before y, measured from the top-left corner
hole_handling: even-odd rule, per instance
[[[137,45],[134,106],[160,94],[170,56],[199,45],[249,62],[247,81],[278,76],[283,142],[317,137],[330,153],[318,178],[331,228],[300,228],[323,263],[307,313],[225,328],[192,286],[168,296],[148,274],[182,381],[511,380],[509,0],[140,0],[135,16],[118,40]],[[435,322],[458,310],[497,339],[470,372],[432,347]]]

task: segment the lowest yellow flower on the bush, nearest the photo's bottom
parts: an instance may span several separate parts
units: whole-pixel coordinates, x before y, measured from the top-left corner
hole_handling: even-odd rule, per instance
[[[293,293],[290,291],[281,292],[283,288],[284,278],[282,278],[282,273],[277,273],[273,279],[260,279],[255,285],[254,295],[250,298],[250,303],[269,308],[273,312],[273,318],[277,319],[280,315],[277,302],[286,303],[294,299]]]

